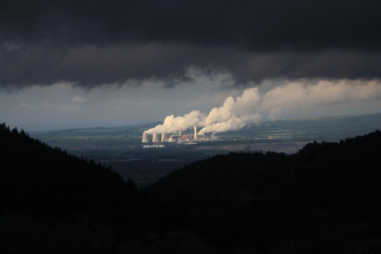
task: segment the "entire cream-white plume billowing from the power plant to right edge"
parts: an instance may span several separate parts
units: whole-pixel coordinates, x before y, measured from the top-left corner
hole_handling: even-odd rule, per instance
[[[200,133],[237,130],[247,123],[258,123],[263,118],[276,120],[293,111],[307,111],[320,106],[356,101],[381,99],[381,81],[322,80],[317,84],[292,82],[260,94],[258,88],[247,88],[236,100],[229,96],[219,108],[208,114],[198,110],[184,115],[165,118],[163,125],[146,131],[153,133],[178,133],[193,126],[202,127]]]

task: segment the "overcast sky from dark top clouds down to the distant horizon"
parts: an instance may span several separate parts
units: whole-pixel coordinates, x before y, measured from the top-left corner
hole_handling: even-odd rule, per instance
[[[0,121],[141,124],[248,88],[259,121],[381,112],[380,13],[380,1],[1,1]]]

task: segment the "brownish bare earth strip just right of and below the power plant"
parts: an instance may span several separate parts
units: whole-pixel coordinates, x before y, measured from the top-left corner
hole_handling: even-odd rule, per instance
[[[328,142],[338,142],[338,141],[328,141]],[[193,147],[193,149],[215,149],[215,150],[226,150],[226,151],[250,151],[256,152],[261,150],[262,152],[274,151],[277,153],[296,153],[299,149],[302,149],[304,145],[312,143],[312,141],[308,142],[278,142],[278,143],[258,143],[258,144],[239,144],[239,145],[210,145],[210,146],[202,146],[202,147]]]

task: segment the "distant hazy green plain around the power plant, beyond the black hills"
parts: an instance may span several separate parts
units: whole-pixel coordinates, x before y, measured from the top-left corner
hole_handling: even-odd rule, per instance
[[[261,122],[258,125],[251,123],[240,130],[219,133],[220,141],[201,142],[193,145],[165,143],[164,148],[143,149],[142,133],[161,123],[114,128],[32,131],[29,134],[52,147],[60,147],[78,157],[95,161],[108,160],[103,164],[111,165],[123,177],[133,177],[139,186],[144,186],[192,161],[208,158],[216,153],[227,152],[216,149],[192,149],[195,146],[345,139],[380,129],[381,113],[299,117]],[[193,131],[190,128],[183,130],[183,133],[188,134]],[[206,136],[211,136],[211,133],[206,133]],[[268,139],[269,136],[273,136],[274,139]],[[149,138],[152,139],[152,135],[149,135]],[[128,159],[138,159],[139,161],[118,162],[118,160]],[[181,161],[160,162],[159,160]]]

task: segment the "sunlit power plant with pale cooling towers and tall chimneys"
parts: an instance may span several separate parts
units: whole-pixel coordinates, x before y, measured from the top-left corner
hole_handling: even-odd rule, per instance
[[[180,134],[179,135],[173,135],[169,136],[167,133],[162,133],[162,140],[161,142],[176,142],[178,144],[194,144],[195,142],[204,142],[204,141],[211,141],[211,140],[219,140],[218,132],[213,131],[212,136],[210,139],[205,138],[205,134],[198,134],[197,135],[197,127],[194,126],[194,134],[186,134],[181,136],[181,127],[180,127]],[[148,133],[143,133],[143,139],[142,143],[148,143]],[[152,137],[152,142],[159,142],[159,136],[158,133],[154,133]]]

